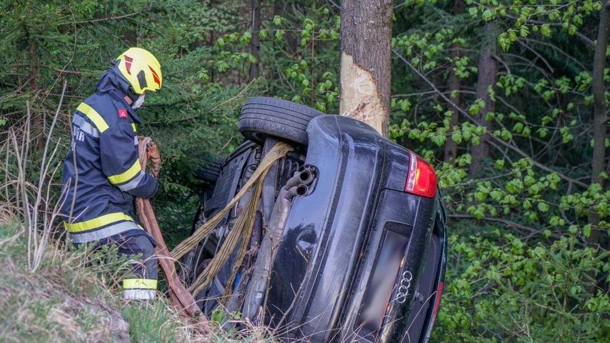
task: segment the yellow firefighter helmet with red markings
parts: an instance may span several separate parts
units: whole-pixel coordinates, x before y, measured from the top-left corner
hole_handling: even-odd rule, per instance
[[[129,48],[117,57],[117,68],[138,95],[161,88],[163,75],[159,61],[142,48]]]

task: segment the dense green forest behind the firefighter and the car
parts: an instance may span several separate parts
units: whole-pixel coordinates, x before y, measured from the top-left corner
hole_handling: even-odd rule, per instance
[[[608,2],[370,5],[392,6],[387,135],[434,165],[450,218],[433,339],[610,339]],[[163,70],[138,131],[162,152],[153,206],[171,248],[198,205],[193,172],[242,142],[246,98],[339,112],[340,6],[0,1],[0,203],[23,202],[20,187],[47,191],[27,210],[3,206],[2,218],[60,233],[50,213],[71,114],[111,59],[140,46]]]

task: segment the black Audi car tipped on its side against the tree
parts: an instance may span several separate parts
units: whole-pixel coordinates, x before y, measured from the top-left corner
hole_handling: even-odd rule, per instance
[[[295,150],[262,183],[248,257],[229,284],[226,311],[278,328],[285,341],[427,341],[447,254],[434,170],[360,121],[280,99],[246,101],[239,128],[246,141],[198,171],[206,186],[193,229],[229,203],[278,140]],[[185,256],[187,284],[243,207],[240,201]],[[268,232],[278,223],[281,230]],[[273,235],[269,255],[265,237]],[[204,312],[218,305],[235,255],[196,295]]]

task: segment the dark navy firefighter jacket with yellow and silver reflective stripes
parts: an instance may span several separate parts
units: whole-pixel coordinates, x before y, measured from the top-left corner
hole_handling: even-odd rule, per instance
[[[61,200],[64,227],[74,243],[136,234],[142,227],[134,220],[134,197],[149,198],[157,190],[157,180],[138,162],[140,120],[123,99],[128,87],[109,68],[97,92],[74,112]]]

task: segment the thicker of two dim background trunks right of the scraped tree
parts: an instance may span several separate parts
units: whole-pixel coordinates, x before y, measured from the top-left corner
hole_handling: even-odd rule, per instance
[[[490,87],[495,88],[495,84],[498,81],[498,61],[494,58],[497,49],[495,23],[486,23],[484,30],[487,32],[487,37],[481,51],[481,56],[479,56],[476,98],[483,99],[485,102],[485,106],[479,111],[477,122],[479,125],[487,128],[487,133],[481,136],[481,142],[478,145],[473,145],[470,148],[470,154],[472,155],[470,176],[478,173],[483,165],[483,160],[489,157],[489,143],[487,141],[492,130],[492,122],[485,120],[485,117],[489,112],[495,110],[495,102],[492,101],[488,89]]]

